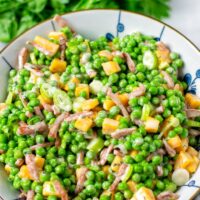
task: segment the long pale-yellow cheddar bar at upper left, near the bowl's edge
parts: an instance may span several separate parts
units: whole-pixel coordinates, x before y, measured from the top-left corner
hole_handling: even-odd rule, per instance
[[[41,36],[36,36],[34,39],[34,43],[36,43],[38,46],[40,46],[40,48],[43,48],[46,51],[48,51],[49,56],[55,55],[59,49],[58,44],[50,42],[49,40],[47,40]]]

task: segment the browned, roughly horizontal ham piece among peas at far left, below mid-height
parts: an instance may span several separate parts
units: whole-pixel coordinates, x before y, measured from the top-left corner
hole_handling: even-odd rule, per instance
[[[19,128],[17,130],[17,133],[19,135],[32,135],[35,132],[44,132],[48,130],[48,126],[46,125],[46,123],[44,121],[41,122],[37,122],[34,125],[28,125],[24,122],[20,122],[19,123]]]

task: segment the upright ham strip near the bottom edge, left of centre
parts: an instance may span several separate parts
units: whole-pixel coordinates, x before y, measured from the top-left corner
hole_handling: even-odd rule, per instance
[[[77,178],[77,184],[76,184],[76,189],[75,189],[76,194],[81,192],[82,189],[84,188],[87,171],[88,169],[86,167],[81,167],[76,170],[76,178]]]

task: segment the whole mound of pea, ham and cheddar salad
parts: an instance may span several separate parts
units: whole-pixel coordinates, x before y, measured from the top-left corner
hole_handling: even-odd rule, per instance
[[[140,33],[36,36],[0,103],[0,162],[28,200],[178,199],[199,164],[200,98],[183,61]]]

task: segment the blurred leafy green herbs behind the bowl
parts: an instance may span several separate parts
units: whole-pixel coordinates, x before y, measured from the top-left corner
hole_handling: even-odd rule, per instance
[[[55,14],[92,8],[115,8],[157,19],[169,16],[170,0],[0,0],[0,42],[9,42]]]

